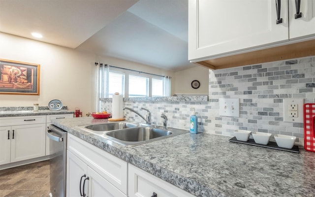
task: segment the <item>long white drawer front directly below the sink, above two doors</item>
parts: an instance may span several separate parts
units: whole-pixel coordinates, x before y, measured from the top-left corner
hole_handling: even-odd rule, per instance
[[[67,150],[88,164],[123,193],[127,194],[127,163],[68,133]]]

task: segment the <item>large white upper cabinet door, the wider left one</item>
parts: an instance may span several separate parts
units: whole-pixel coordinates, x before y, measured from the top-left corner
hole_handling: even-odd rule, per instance
[[[189,60],[223,57],[288,41],[288,5],[275,0],[189,0]]]

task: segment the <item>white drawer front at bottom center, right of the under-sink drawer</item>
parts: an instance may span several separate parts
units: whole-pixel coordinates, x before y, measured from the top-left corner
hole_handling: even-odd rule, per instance
[[[195,197],[192,194],[170,184],[158,177],[128,164],[129,197]]]

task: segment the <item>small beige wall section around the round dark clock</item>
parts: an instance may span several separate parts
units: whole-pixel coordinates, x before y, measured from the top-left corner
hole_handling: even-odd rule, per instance
[[[192,95],[208,95],[209,94],[209,69],[196,66],[193,68],[181,70],[175,73],[173,80],[174,93],[173,94],[192,94]],[[198,80],[200,82],[200,88],[193,89],[191,82]]]

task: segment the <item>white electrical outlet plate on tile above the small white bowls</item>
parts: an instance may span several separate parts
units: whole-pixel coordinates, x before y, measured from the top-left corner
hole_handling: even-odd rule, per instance
[[[304,99],[284,99],[284,122],[303,123]]]

